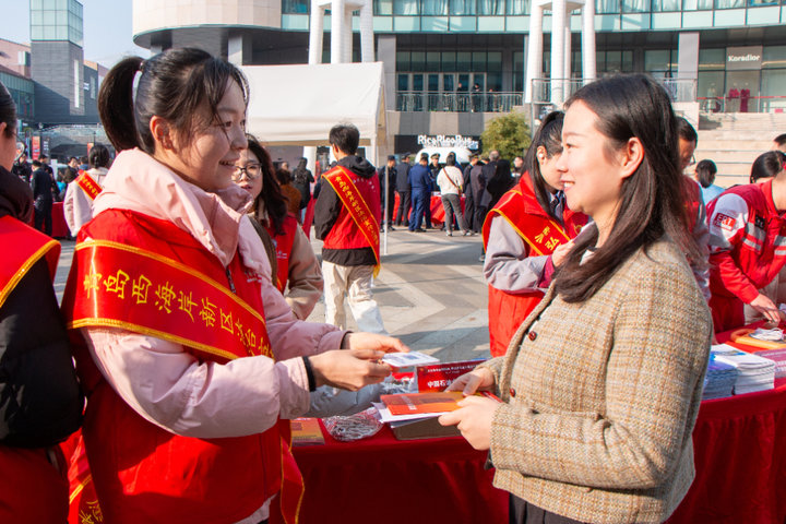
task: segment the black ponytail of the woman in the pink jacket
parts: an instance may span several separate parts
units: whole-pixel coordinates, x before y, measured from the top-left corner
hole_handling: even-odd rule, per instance
[[[140,57],[122,59],[109,71],[98,91],[98,115],[117,152],[142,146],[133,106],[133,80],[142,61]]]

